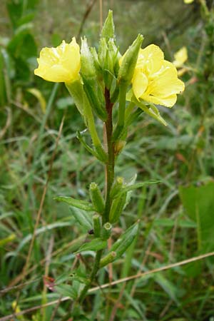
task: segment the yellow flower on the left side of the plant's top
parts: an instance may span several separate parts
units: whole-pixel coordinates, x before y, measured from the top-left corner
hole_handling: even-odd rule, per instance
[[[41,49],[37,59],[39,67],[34,73],[46,81],[71,83],[78,78],[81,68],[79,46],[73,37],[70,44],[65,41],[56,48]]]

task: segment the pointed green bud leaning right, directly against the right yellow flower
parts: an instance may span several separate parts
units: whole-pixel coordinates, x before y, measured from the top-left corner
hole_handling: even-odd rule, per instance
[[[131,83],[142,42],[143,36],[138,34],[136,40],[133,41],[133,44],[121,58],[122,61],[118,72],[118,81]]]

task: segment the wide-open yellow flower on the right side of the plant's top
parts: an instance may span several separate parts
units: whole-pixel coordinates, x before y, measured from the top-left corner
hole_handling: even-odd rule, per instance
[[[175,66],[164,60],[163,51],[154,44],[140,49],[132,84],[138,101],[142,99],[166,107],[172,107],[177,94],[184,90]]]

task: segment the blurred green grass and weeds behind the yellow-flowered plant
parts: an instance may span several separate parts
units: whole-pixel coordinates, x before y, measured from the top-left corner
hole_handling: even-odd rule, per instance
[[[114,233],[140,218],[138,238],[98,284],[127,280],[95,288],[82,320],[214,320],[212,256],[180,264],[214,250],[214,14],[213,1],[203,3],[1,0],[0,320],[63,320],[71,301],[58,299],[71,293],[53,291],[54,283],[90,264],[90,251],[73,255],[86,230],[53,198],[87,199],[91,181],[103,187],[103,167],[76,139],[84,124],[66,88],[34,76],[34,68],[40,49],[62,39],[86,35],[96,46],[108,9],[121,53],[138,33],[169,61],[187,47],[186,89],[172,110],[160,108],[167,127],[143,114],[128,135],[116,175],[161,183],[133,193]]]

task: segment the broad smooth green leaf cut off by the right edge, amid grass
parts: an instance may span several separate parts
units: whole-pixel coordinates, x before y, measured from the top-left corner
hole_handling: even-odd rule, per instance
[[[179,192],[186,213],[197,224],[198,250],[202,253],[214,250],[214,182],[181,186]]]

